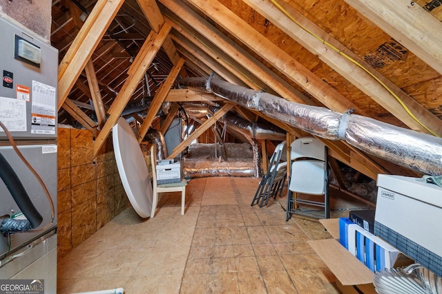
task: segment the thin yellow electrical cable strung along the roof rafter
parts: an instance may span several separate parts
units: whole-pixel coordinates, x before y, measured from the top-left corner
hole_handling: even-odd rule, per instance
[[[307,28],[305,28],[305,26],[303,26],[301,23],[299,23],[294,17],[291,16],[291,14],[289,14],[289,12],[287,12],[287,10],[285,10],[285,8],[283,8],[282,6],[280,6],[279,3],[276,2],[276,0],[270,0],[271,3],[273,3],[282,13],[284,13],[287,17],[289,17],[289,19],[291,19],[291,21],[293,21],[294,23],[296,23],[296,25],[298,25],[300,28],[302,28],[302,30],[305,30],[305,32],[311,34],[311,36],[314,36],[316,39],[318,39],[321,43],[329,46],[329,48],[332,48],[335,52],[337,52],[338,54],[344,56],[346,59],[348,59],[349,61],[351,61],[352,63],[354,63],[355,65],[357,65],[358,67],[361,67],[362,70],[364,70],[365,72],[367,72],[367,74],[369,74],[370,76],[372,76],[376,81],[378,81],[378,83],[380,83],[388,92],[390,92],[390,94],[392,94],[392,96],[394,98],[396,98],[396,100],[398,101],[398,103],[400,103],[403,107],[403,109],[405,109],[405,112],[407,112],[407,114],[409,114],[417,123],[419,123],[419,125],[421,125],[424,129],[426,129],[428,132],[430,132],[431,134],[433,134],[436,137],[439,137],[436,133],[432,132],[431,129],[429,129],[426,125],[424,125],[423,123],[421,123],[421,121],[416,118],[416,116],[414,116],[414,114],[412,114],[412,112],[410,111],[410,109],[407,107],[407,105],[405,105],[405,103],[401,100],[401,98],[399,98],[391,89],[390,87],[388,87],[387,85],[385,85],[385,83],[383,83],[383,81],[381,81],[377,76],[375,76],[374,74],[372,74],[372,72],[369,72],[369,70],[367,70],[365,67],[363,67],[363,65],[361,65],[361,63],[358,63],[358,61],[352,59],[352,57],[348,56],[347,54],[345,54],[344,52],[340,51],[338,48],[336,48],[334,45],[332,45],[331,43],[325,41],[324,39],[322,39],[320,36],[314,34],[314,32],[311,32],[310,30],[308,30]]]

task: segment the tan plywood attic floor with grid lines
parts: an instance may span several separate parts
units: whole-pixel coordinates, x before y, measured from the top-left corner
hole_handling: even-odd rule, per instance
[[[285,197],[250,206],[259,179],[196,178],[164,194],[155,218],[131,208],[58,262],[57,293],[339,293],[308,240],[332,238],[316,219],[285,221]],[[285,195],[285,193],[283,193]],[[332,195],[332,217],[365,204]]]

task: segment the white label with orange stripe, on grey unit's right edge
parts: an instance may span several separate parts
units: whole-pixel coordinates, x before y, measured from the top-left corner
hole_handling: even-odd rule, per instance
[[[55,134],[56,106],[55,87],[32,81],[31,134]]]

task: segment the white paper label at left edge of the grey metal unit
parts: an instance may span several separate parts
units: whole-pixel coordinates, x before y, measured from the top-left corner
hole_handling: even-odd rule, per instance
[[[9,132],[26,132],[26,101],[0,97],[0,120]]]

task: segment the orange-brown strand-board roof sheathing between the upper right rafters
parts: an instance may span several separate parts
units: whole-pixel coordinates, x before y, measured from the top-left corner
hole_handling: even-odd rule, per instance
[[[282,2],[282,0],[278,0]],[[239,17],[247,21],[249,25],[258,30],[261,34],[270,39],[273,43],[296,61],[305,65],[311,72],[323,78],[329,85],[332,85],[340,94],[343,94],[349,101],[352,101],[367,116],[404,127],[403,123],[394,118],[383,107],[374,102],[351,85],[332,68],[320,61],[314,54],[302,48],[296,41],[289,38],[287,34],[276,28],[260,14],[252,10],[242,1],[220,0],[229,10],[235,12]],[[374,23],[365,19],[344,1],[285,1],[291,7],[313,21],[321,29],[327,32],[334,39],[345,45],[349,50],[364,59],[375,67],[390,81],[400,87],[405,93],[410,94],[419,103],[424,105],[434,115],[441,114],[439,105],[431,105],[432,101],[439,98],[439,91],[425,92],[428,87],[434,89],[434,85],[441,82],[441,76],[429,65],[417,58],[412,52],[404,48],[400,43],[392,39]],[[220,26],[217,25],[217,28]],[[220,28],[222,30],[222,28]],[[256,56],[260,59],[259,56]],[[260,59],[262,60],[262,59]],[[265,63],[265,61],[262,61]],[[293,83],[292,83],[293,84]],[[294,85],[298,87],[297,85]],[[417,87],[417,89],[414,89]],[[420,89],[420,91],[419,91]],[[301,90],[302,91],[302,90]],[[413,94],[418,94],[414,96]],[[308,94],[306,94],[308,96]]]

